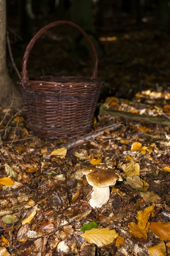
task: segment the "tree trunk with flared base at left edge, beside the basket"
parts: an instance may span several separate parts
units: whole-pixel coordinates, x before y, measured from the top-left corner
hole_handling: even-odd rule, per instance
[[[1,105],[10,105],[13,98],[14,107],[22,104],[21,93],[11,81],[6,66],[6,0],[0,1],[0,91]]]

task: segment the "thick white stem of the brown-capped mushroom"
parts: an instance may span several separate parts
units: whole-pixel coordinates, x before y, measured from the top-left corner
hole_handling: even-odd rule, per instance
[[[107,187],[93,187],[93,192],[91,193],[91,199],[89,204],[91,207],[102,207],[103,204],[106,204],[109,200],[110,189]]]

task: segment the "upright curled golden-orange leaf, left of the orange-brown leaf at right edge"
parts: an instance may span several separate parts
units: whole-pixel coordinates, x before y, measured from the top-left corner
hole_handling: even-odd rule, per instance
[[[138,225],[142,228],[145,229],[147,226],[148,219],[150,217],[151,212],[153,212],[153,209],[155,208],[154,205],[151,205],[147,208],[145,208],[143,211],[138,212],[138,216],[136,219],[138,220]]]

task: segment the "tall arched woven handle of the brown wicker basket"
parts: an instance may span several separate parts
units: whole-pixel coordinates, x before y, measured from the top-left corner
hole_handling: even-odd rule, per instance
[[[84,36],[84,38],[86,39],[86,41],[90,45],[92,53],[93,53],[93,56],[94,56],[94,69],[93,69],[93,73],[92,73],[91,79],[97,78],[98,58],[97,58],[97,54],[96,54],[96,49],[95,49],[94,44],[92,43],[91,39],[88,37],[86,32],[81,27],[79,27],[77,24],[75,24],[75,23],[73,23],[71,21],[61,20],[61,21],[54,21],[52,23],[49,23],[48,25],[46,25],[45,27],[40,29],[40,31],[37,32],[36,35],[34,35],[34,37],[31,39],[31,41],[27,45],[26,51],[24,52],[24,56],[23,56],[22,73],[21,73],[23,87],[25,87],[24,83],[29,80],[28,73],[27,73],[27,67],[26,66],[27,66],[27,61],[28,61],[29,53],[30,53],[32,47],[34,46],[34,44],[37,41],[37,39],[40,38],[40,36],[47,29],[50,29],[51,27],[59,26],[59,25],[69,25],[69,26],[72,26],[75,29],[77,29],[80,33],[82,33],[82,35]]]

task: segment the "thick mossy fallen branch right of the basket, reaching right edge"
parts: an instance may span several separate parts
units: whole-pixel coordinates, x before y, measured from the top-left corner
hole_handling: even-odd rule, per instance
[[[143,122],[148,122],[148,123],[153,123],[153,124],[158,124],[158,125],[170,126],[170,119],[163,117],[163,116],[140,115],[137,113],[108,109],[105,106],[102,106],[100,108],[100,114],[101,115],[117,116],[117,117],[122,117],[125,119],[131,119],[131,120],[140,121],[140,122],[143,121]]]

